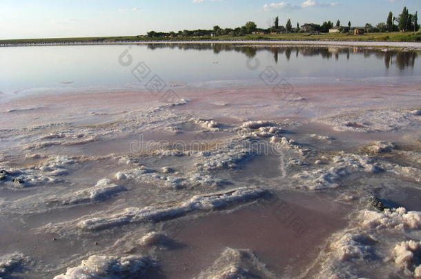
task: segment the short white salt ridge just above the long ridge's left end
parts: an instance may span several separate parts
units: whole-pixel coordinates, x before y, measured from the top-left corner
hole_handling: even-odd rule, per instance
[[[78,205],[81,203],[93,203],[107,200],[112,196],[125,191],[126,188],[110,183],[109,179],[101,179],[95,187],[83,189],[78,192],[67,194],[62,198],[52,198],[48,201],[50,204],[59,205]]]

